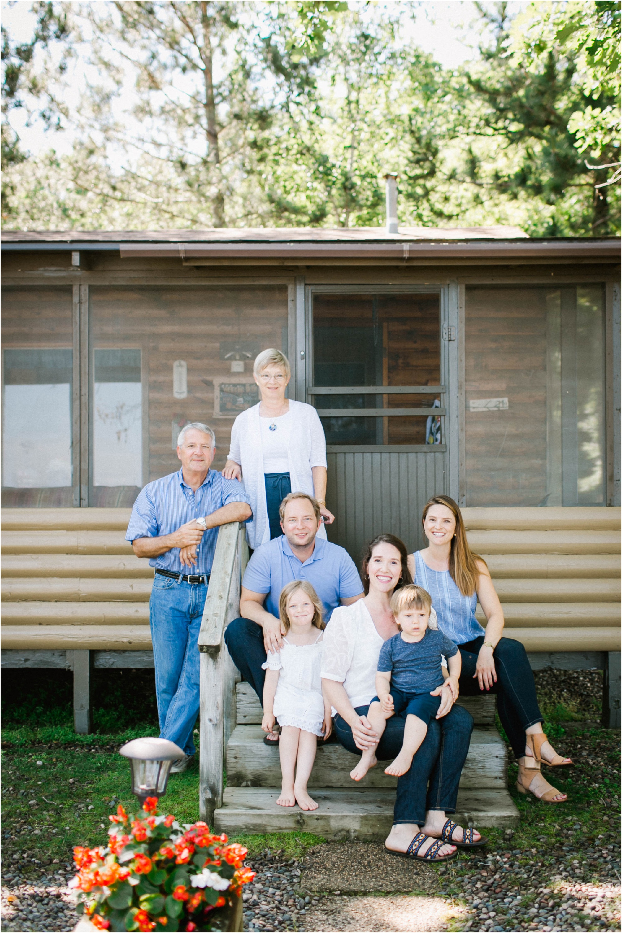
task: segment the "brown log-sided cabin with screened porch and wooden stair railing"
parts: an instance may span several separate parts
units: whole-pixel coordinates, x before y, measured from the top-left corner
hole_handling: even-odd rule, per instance
[[[290,397],[325,426],[329,537],[357,562],[380,531],[415,549],[424,502],[452,495],[507,634],[534,667],[604,669],[605,721],[619,727],[619,240],[513,228],[7,231],[2,256],[2,663],[73,669],[78,731],[90,729],[93,664],[153,663],[152,571],[124,540],[131,504],[178,467],[188,422],[214,427],[223,466],[234,418],[256,402],[253,359],[270,346],[292,364]],[[254,756],[270,749],[220,648],[243,563],[231,534],[201,634],[216,704],[201,717],[201,806],[224,829],[263,814],[262,831],[270,806],[244,795],[270,797],[273,775],[260,775],[274,762],[257,772]],[[481,757],[465,793],[501,793],[505,748],[491,711],[475,712]],[[225,740],[227,793],[239,794],[223,816]],[[487,742],[488,777],[477,765],[491,759]],[[325,761],[323,780],[340,780],[339,767]],[[515,818],[504,793],[489,822]],[[384,804],[367,800],[382,822]],[[466,798],[463,814],[481,817]],[[347,807],[326,819],[316,831],[352,829]]]

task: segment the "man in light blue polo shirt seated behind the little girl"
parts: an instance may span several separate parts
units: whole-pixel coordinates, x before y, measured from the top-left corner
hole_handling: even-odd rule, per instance
[[[279,596],[286,583],[307,580],[325,607],[325,621],[337,606],[350,606],[364,595],[363,584],[352,557],[324,538],[316,537],[320,527],[320,505],[306,493],[290,493],[281,503],[283,536],[272,538],[251,557],[240,594],[242,619],[229,622],[225,642],[244,680],[256,691],[263,704],[262,664],[267,652],[283,645],[279,619]],[[278,735],[266,736],[276,745]]]

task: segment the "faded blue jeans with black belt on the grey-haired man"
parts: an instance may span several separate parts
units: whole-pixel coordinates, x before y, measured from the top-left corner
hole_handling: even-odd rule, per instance
[[[199,630],[207,587],[156,574],[149,625],[156,667],[159,735],[194,755],[199,715]]]

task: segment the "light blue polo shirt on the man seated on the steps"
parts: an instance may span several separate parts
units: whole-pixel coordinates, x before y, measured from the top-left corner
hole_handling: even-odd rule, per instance
[[[252,592],[266,592],[264,608],[279,618],[279,596],[286,583],[307,580],[325,608],[325,621],[342,599],[352,599],[363,592],[363,584],[352,557],[338,544],[316,537],[309,560],[301,564],[287,538],[274,537],[254,552],[242,579],[242,586]]]

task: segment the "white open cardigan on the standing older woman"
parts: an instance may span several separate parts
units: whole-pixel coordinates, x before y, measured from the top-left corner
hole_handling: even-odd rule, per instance
[[[249,546],[254,550],[270,541],[259,404],[242,411],[233,422],[228,453],[229,460],[242,466],[242,481],[251,499],[253,519],[246,525],[246,536]],[[326,466],[324,428],[312,405],[290,398],[289,411],[292,412],[292,417],[287,456],[292,492],[313,495],[311,467]],[[323,524],[320,525],[318,536],[326,536]]]

